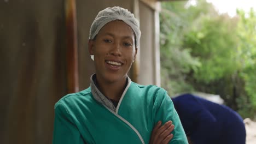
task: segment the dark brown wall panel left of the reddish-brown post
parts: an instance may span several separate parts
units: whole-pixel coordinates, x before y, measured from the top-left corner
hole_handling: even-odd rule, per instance
[[[65,51],[63,1],[0,1],[0,143],[51,143]]]

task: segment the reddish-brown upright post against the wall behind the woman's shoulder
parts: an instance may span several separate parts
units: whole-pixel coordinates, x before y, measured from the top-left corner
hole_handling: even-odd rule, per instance
[[[75,0],[66,0],[67,88],[68,93],[79,91],[77,15]]]

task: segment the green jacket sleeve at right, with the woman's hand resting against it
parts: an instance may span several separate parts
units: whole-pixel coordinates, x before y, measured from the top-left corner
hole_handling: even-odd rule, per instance
[[[170,141],[171,144],[187,144],[187,136],[185,135],[182,127],[181,120],[178,113],[174,109],[171,98],[164,89],[158,91],[155,103],[153,105],[153,112],[155,113],[155,124],[158,121],[162,121],[162,124],[167,121],[172,121],[174,130],[172,131],[173,138]]]

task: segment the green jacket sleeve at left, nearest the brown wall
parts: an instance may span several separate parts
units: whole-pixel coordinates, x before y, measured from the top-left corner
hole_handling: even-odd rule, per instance
[[[60,102],[55,105],[53,144],[85,143],[69,115]]]

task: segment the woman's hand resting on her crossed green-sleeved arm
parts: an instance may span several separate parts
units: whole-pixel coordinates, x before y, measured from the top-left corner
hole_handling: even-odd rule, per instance
[[[155,125],[151,137],[150,137],[150,144],[158,144],[158,143],[168,143],[171,141],[173,134],[171,132],[174,129],[174,125],[172,121],[166,122],[162,125],[162,122],[159,121],[158,124]]]

